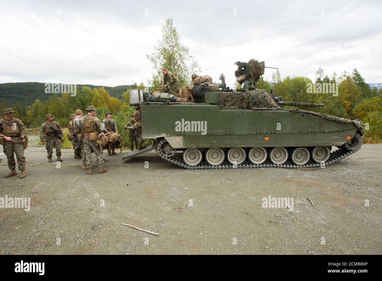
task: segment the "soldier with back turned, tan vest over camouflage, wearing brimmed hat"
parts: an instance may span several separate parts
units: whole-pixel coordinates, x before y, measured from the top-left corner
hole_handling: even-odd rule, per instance
[[[93,115],[95,113],[94,106],[88,106],[86,111],[87,115],[81,117],[79,120],[79,124],[82,129],[83,133],[83,143],[84,143],[84,149],[83,153],[85,154],[86,159],[86,167],[87,167],[87,174],[91,175],[93,174],[93,164],[91,159],[91,153],[94,152],[95,156],[97,157],[97,164],[100,167],[99,173],[102,174],[106,172],[106,169],[104,167],[104,160],[102,158],[102,148],[100,148],[99,142],[98,142],[98,134],[104,135],[101,129],[101,122],[98,118],[95,118]],[[91,135],[95,134],[95,140],[89,140]],[[98,142],[98,143],[97,143]],[[98,147],[97,147],[98,146]]]

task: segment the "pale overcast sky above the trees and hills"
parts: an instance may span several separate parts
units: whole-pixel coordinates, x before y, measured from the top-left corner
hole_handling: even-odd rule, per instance
[[[355,67],[367,83],[382,82],[381,1],[2,0],[0,83],[146,84],[146,54],[168,17],[198,74],[215,82],[224,73],[232,86],[235,61],[251,58],[282,77],[313,80],[321,65],[329,76]]]

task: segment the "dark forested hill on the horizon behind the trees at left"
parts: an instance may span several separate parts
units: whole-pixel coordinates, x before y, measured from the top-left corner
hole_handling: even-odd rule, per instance
[[[87,86],[91,89],[98,87],[105,87],[110,96],[122,98],[125,92],[131,85],[122,85],[115,87],[108,86],[94,86],[77,84],[77,89]],[[5,101],[7,106],[13,107],[16,103],[25,104],[29,106],[33,104],[36,99],[41,102],[46,101],[52,94],[45,94],[45,83],[40,82],[19,82],[19,83],[0,83],[0,101]],[[58,94],[61,96],[61,94]]]

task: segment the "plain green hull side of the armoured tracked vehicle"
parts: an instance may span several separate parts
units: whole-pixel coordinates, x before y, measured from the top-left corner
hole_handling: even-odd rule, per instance
[[[342,146],[359,131],[353,123],[286,109],[235,110],[189,103],[150,103],[141,109],[143,138],[164,137],[176,149]]]

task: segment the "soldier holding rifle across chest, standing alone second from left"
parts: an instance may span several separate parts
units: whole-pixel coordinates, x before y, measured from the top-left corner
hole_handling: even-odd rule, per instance
[[[52,161],[53,147],[56,149],[57,161],[62,162],[61,159],[61,140],[62,140],[62,129],[60,123],[57,121],[53,121],[53,115],[47,114],[45,115],[45,119],[47,122],[42,123],[40,127],[40,141],[45,144],[45,148],[47,149],[48,162]],[[58,132],[61,138],[54,133],[54,130]]]

